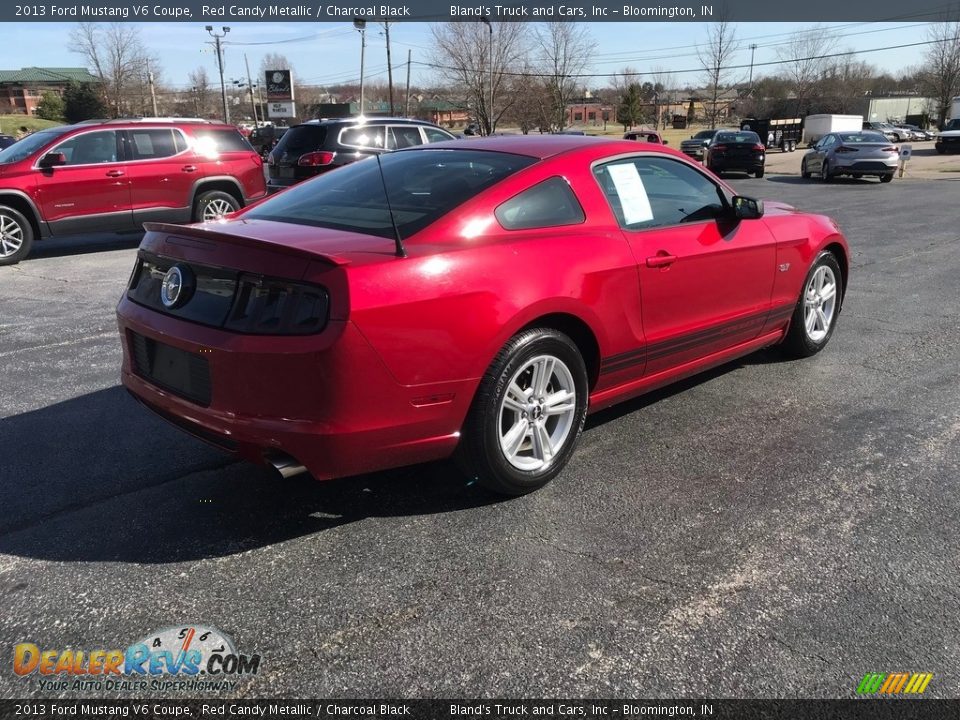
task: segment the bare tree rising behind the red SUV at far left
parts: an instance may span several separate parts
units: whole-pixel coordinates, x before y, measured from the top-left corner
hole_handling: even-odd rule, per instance
[[[100,78],[114,116],[130,113],[131,101],[138,98],[142,107],[148,68],[159,73],[160,63],[144,49],[136,26],[79,23],[70,32],[69,48],[82,55]]]

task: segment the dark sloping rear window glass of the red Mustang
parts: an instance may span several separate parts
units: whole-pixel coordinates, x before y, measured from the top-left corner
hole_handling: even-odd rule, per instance
[[[411,150],[346,165],[267,200],[244,215],[393,238],[384,182],[402,238],[410,237],[536,160],[476,150]]]

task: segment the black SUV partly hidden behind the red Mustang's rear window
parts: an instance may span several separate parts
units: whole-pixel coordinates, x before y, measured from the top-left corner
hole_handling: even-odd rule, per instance
[[[301,180],[382,152],[456,138],[443,128],[405,118],[339,118],[294,125],[267,156],[267,188]]]

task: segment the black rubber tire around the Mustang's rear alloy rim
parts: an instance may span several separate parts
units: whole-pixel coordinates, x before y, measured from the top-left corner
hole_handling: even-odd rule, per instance
[[[575,395],[574,407],[573,414],[566,418],[566,433],[559,439],[559,448],[555,449],[551,459],[540,468],[527,470],[511,462],[501,447],[501,435],[505,429],[508,429],[504,427],[504,416],[505,413],[510,412],[504,403],[508,387],[514,379],[521,389],[525,389],[523,383],[528,379],[532,383],[532,375],[527,375],[526,368],[534,358],[539,356],[549,356],[559,360],[569,372]],[[550,385],[547,388],[554,382],[562,383],[559,377],[560,366],[556,367],[558,374],[550,376]],[[521,373],[521,371],[524,372]],[[517,375],[518,373],[520,374]],[[561,385],[558,384],[556,387]],[[532,389],[532,384],[526,389]],[[573,454],[587,415],[588,392],[586,365],[577,346],[569,337],[550,328],[535,328],[515,335],[497,354],[480,381],[480,387],[470,407],[454,459],[469,477],[475,478],[477,482],[493,492],[513,496],[533,492],[556,477]],[[542,409],[542,406],[540,407]],[[530,417],[523,415],[521,419],[519,413],[515,417],[516,421],[512,427],[520,427],[523,431],[522,435],[516,436],[520,439],[516,451],[517,462],[537,462],[536,457],[519,457],[527,444],[528,434],[530,434],[529,452],[536,455],[533,448],[533,433],[536,432],[533,429],[536,422],[533,419],[533,412]],[[541,419],[541,426],[546,428],[548,433],[559,432],[558,428],[564,422],[559,417],[555,418],[554,429],[550,430],[552,418],[542,412],[538,412],[537,417]],[[521,426],[522,423],[527,425]],[[509,425],[509,423],[506,424]]]

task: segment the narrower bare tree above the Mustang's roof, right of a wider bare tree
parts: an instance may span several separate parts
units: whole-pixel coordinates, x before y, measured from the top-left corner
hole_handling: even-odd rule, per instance
[[[585,24],[551,22],[537,28],[535,43],[536,64],[550,96],[550,127],[563,130],[567,124],[567,106],[581,86],[578,76],[590,67],[596,42]]]

